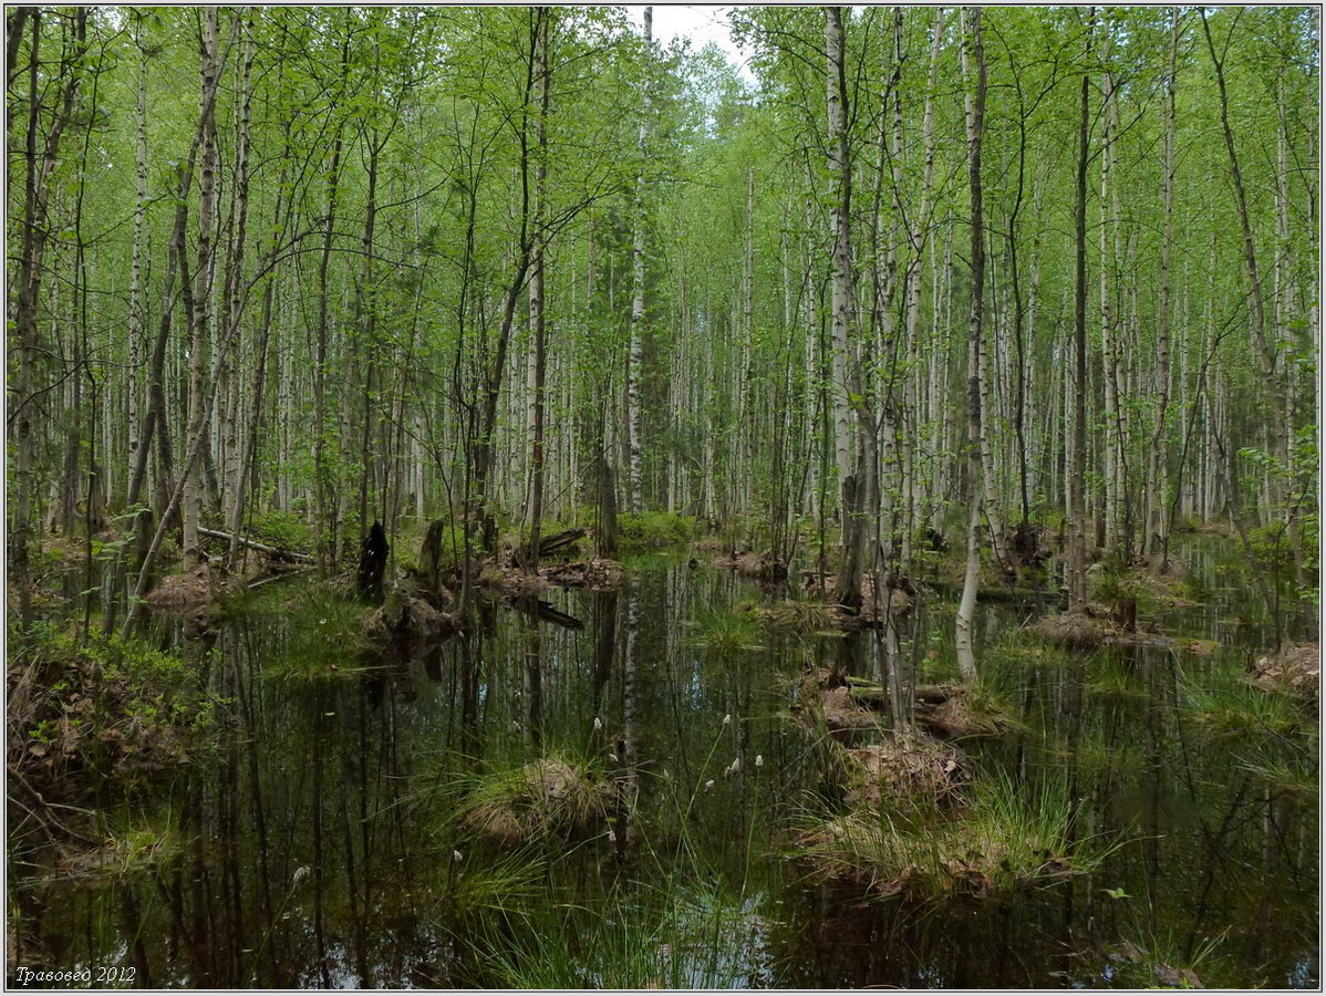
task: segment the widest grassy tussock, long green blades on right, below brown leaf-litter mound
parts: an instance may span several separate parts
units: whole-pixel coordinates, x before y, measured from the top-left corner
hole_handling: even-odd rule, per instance
[[[797,854],[814,874],[875,897],[943,899],[1044,887],[1091,871],[1105,849],[1074,842],[1066,785],[1022,790],[1006,776],[973,786],[960,820],[855,808],[812,826]]]

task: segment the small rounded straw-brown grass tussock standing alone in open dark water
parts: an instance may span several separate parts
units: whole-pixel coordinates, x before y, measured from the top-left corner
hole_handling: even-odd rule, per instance
[[[586,765],[549,755],[481,777],[463,802],[467,829],[505,846],[583,833],[607,818],[613,785]]]

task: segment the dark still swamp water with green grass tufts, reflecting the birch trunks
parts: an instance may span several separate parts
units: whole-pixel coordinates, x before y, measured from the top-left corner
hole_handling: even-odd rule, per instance
[[[1315,988],[1315,721],[1242,682],[1270,629],[1215,542],[1183,554],[1200,603],[1144,619],[1205,653],[1073,654],[1026,633],[1034,609],[979,607],[983,683],[1017,724],[965,756],[1028,793],[1066,780],[1074,832],[1109,853],[924,904],[789,857],[841,804],[802,678],[880,678],[874,634],[761,627],[751,607],[786,590],[688,552],[386,671],[300,581],[207,637],[162,621],[219,699],[217,749],[103,798],[99,855],[11,854],[11,983]],[[951,605],[922,597],[900,635],[904,688],[953,680]],[[619,788],[517,847],[457,817],[485,772],[550,756]]]

